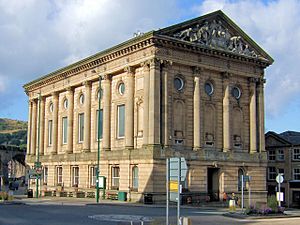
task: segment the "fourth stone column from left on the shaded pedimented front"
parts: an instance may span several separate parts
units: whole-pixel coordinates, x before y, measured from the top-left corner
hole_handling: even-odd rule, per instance
[[[256,79],[250,78],[250,153],[257,152]]]

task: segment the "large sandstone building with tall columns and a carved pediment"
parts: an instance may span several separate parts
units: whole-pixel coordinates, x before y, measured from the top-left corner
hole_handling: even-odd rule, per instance
[[[244,174],[253,199],[265,199],[264,70],[272,63],[222,11],[138,35],[24,85],[27,163],[36,160],[40,108],[42,190],[93,192],[100,96],[108,190],[163,199],[166,158],[183,156],[187,192],[238,193]]]

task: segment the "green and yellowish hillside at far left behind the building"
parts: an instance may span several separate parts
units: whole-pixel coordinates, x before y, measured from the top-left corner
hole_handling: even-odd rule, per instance
[[[27,122],[0,118],[0,145],[26,148]]]

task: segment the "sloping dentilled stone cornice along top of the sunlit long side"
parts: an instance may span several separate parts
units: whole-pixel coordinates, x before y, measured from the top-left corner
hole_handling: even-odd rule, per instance
[[[41,78],[25,84],[23,88],[25,89],[25,92],[28,93],[32,89],[35,89],[37,87],[59,81],[61,79],[70,77],[74,74],[78,74],[89,69],[94,69],[97,66],[104,65],[105,63],[123,57],[124,55],[139,51],[145,47],[149,47],[155,44],[153,33],[154,32],[151,31],[142,36],[132,38],[129,41],[123,42],[74,64],[56,70],[52,73],[42,76]]]

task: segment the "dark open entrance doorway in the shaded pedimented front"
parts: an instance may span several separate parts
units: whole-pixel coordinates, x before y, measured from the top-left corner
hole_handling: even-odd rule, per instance
[[[210,201],[219,201],[219,168],[207,168],[207,194]]]

